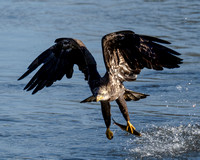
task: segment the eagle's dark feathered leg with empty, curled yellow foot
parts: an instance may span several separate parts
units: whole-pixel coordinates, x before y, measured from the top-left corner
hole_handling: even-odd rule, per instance
[[[108,139],[111,140],[113,138],[113,132],[110,130],[111,113],[110,113],[110,103],[108,101],[101,101],[101,111],[107,127],[106,136]]]

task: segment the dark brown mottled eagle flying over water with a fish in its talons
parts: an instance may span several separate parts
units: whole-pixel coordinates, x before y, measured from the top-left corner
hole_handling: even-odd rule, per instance
[[[35,94],[61,80],[63,76],[72,78],[73,67],[77,65],[92,92],[92,95],[81,103],[100,101],[106,137],[109,140],[113,138],[113,132],[110,130],[111,101],[116,101],[127,124],[121,125],[113,120],[114,123],[131,134],[141,136],[130,122],[126,101],[137,101],[148,95],[126,89],[123,82],[135,81],[143,68],[163,70],[180,67],[180,53],[161,45],[170,44],[166,40],[135,34],[130,30],[109,33],[102,37],[101,43],[106,67],[104,76],[100,76],[94,57],[81,40],[58,38],[53,46],[42,52],[29,65],[18,80],[25,78],[42,64],[24,88],[27,91],[33,90],[32,94]]]

